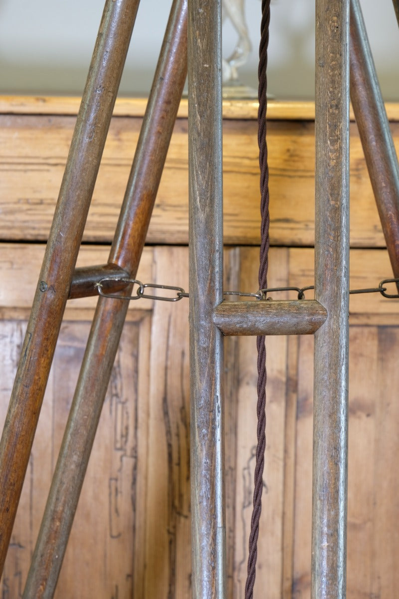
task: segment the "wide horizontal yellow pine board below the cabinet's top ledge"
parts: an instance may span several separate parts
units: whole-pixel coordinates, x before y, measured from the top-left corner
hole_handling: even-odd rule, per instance
[[[84,240],[110,243],[138,141],[141,118],[114,117],[93,193]],[[0,116],[0,238],[47,240],[74,117]],[[224,120],[224,243],[260,241],[257,126]],[[391,123],[399,151],[399,123]],[[270,122],[270,240],[314,244],[313,122]],[[351,124],[351,244],[385,247],[355,123]],[[16,207],[18,208],[16,210]],[[188,241],[187,120],[175,125],[148,243]]]

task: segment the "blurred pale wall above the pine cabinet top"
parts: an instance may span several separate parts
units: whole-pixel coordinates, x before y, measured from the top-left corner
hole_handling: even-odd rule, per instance
[[[363,0],[364,19],[383,96],[399,101],[399,29],[392,2]],[[79,94],[102,14],[102,0],[0,0],[0,93]],[[121,82],[123,95],[146,95],[170,0],[142,0]],[[240,71],[257,85],[260,0],[246,0],[254,50]],[[223,28],[224,55],[236,34]],[[276,98],[312,98],[314,0],[272,0],[269,90]]]

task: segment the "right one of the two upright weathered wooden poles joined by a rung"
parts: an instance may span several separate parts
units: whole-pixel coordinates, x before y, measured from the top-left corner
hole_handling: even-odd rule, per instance
[[[349,307],[349,0],[316,1],[312,599],[346,596]]]

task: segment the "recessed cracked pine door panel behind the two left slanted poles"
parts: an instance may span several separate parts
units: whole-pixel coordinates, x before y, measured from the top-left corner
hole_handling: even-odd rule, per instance
[[[144,597],[150,320],[142,313],[126,324],[121,338],[54,595],[60,599]],[[4,393],[12,385],[25,326],[1,323],[1,338],[7,339],[1,345],[11,358]],[[89,322],[66,320],[60,331],[1,580],[4,597],[22,596],[89,328]],[[0,400],[4,412],[3,392]]]

